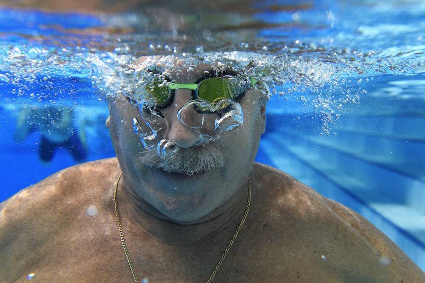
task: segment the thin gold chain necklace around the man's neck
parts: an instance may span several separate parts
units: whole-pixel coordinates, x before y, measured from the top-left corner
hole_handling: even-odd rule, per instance
[[[116,221],[118,222],[119,238],[121,238],[122,248],[124,249],[124,254],[125,254],[125,257],[127,258],[128,266],[130,267],[131,275],[133,275],[134,282],[139,283],[139,281],[137,280],[136,273],[134,272],[133,263],[131,263],[131,260],[130,260],[130,255],[128,255],[127,246],[125,245],[124,233],[122,232],[122,226],[121,226],[121,218],[119,218],[119,212],[118,212],[118,202],[116,201],[116,194],[118,192],[118,182],[119,182],[119,179],[121,178],[121,175],[122,175],[122,171],[121,171],[121,173],[119,173],[119,177],[115,182],[115,192],[113,193],[113,204],[115,206],[115,215],[116,215]],[[238,228],[236,229],[235,235],[233,235],[232,240],[230,240],[229,245],[227,245],[227,248],[224,250],[223,255],[221,256],[220,260],[218,260],[218,263],[215,266],[215,269],[212,272],[207,283],[211,283],[212,278],[214,278],[215,273],[217,273],[217,270],[220,268],[221,263],[223,262],[224,258],[226,257],[227,253],[230,250],[230,247],[232,246],[233,242],[236,240],[236,237],[238,237],[239,231],[241,230],[242,226],[244,225],[244,222],[246,220],[246,216],[248,215],[250,204],[251,204],[251,176],[248,176],[248,201],[246,203],[246,209],[245,209],[244,217],[242,218],[241,223],[239,224]]]

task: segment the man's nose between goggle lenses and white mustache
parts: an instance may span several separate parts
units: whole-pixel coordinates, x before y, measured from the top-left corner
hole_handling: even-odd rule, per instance
[[[191,147],[200,140],[198,132],[181,123],[177,117],[178,109],[191,100],[191,94],[190,90],[176,90],[173,103],[161,111],[168,124],[167,133],[164,138],[176,146],[183,148]]]

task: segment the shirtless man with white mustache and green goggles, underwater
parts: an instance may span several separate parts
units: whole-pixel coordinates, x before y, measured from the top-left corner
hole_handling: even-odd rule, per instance
[[[151,77],[144,99],[108,98],[117,157],[1,204],[1,282],[425,281],[362,216],[254,162],[261,78],[171,57],[137,64]]]

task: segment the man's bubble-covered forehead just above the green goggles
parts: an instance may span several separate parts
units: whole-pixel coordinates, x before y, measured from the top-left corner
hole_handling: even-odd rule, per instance
[[[204,62],[194,57],[144,56],[130,65],[136,72],[159,74],[178,82],[195,82],[208,75],[224,71],[237,73],[232,62]]]

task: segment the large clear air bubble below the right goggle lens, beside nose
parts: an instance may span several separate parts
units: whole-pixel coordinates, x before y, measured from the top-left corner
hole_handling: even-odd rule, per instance
[[[218,139],[222,133],[234,130],[244,122],[241,105],[232,99],[221,99],[215,104],[193,100],[178,110],[177,117],[207,141]]]

